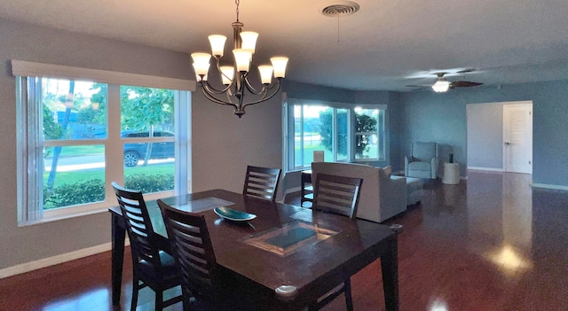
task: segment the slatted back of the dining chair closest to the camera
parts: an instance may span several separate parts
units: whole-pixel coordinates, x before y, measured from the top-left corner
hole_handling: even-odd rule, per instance
[[[184,304],[194,295],[208,296],[217,260],[203,215],[180,211],[158,200],[174,259],[182,271]],[[185,302],[187,300],[187,302]]]

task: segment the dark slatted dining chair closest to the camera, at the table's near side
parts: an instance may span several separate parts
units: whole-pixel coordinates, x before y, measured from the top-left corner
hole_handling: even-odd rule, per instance
[[[206,310],[246,310],[238,286],[218,272],[217,260],[204,215],[191,214],[157,200],[168,231],[171,250],[181,269],[184,310],[190,305]],[[244,303],[244,302],[243,302]],[[200,306],[200,307],[201,307]]]

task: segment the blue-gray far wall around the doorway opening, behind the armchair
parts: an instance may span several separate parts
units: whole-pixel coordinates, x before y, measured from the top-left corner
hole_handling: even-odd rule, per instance
[[[521,100],[533,100],[533,183],[568,186],[568,81],[405,93],[404,152],[413,141],[451,144],[466,175],[466,105]]]

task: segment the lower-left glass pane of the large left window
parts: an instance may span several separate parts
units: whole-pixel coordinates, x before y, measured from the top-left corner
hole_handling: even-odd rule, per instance
[[[105,199],[105,146],[43,148],[43,209]]]

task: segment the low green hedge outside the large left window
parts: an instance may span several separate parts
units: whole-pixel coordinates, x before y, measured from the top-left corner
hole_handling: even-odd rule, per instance
[[[124,187],[141,190],[143,193],[173,190],[174,176],[130,175],[126,177]],[[100,202],[104,199],[105,182],[101,179],[67,183],[52,190],[48,190],[46,185],[43,186],[43,209]]]

